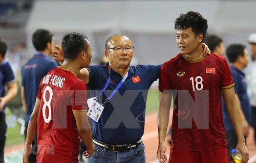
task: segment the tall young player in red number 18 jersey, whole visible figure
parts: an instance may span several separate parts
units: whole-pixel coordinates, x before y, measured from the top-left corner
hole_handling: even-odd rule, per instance
[[[213,53],[202,56],[207,27],[207,20],[197,12],[181,14],[175,21],[180,53],[162,65],[159,75],[157,157],[160,162],[167,159],[164,142],[171,98],[174,114],[169,162],[228,162],[221,95],[237,134],[236,148],[243,155],[242,162],[249,159],[228,64]]]

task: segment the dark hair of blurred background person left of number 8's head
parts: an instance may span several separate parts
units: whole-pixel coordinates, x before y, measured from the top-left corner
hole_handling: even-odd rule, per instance
[[[45,50],[47,43],[52,41],[53,34],[45,29],[38,29],[32,36],[32,42],[37,51]]]

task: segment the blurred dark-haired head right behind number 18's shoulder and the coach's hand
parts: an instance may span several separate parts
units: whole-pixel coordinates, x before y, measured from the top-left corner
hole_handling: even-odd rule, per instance
[[[206,35],[204,42],[208,45],[212,53],[224,57],[225,47],[222,39],[219,36]]]

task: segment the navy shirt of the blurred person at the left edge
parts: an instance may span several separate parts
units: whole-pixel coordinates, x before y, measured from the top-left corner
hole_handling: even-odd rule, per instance
[[[9,62],[4,59],[0,64],[0,97],[5,96],[5,86],[16,82],[14,73]],[[5,116],[5,107],[0,112],[0,117]]]

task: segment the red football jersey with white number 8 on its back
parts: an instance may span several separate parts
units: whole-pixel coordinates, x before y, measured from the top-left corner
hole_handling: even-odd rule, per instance
[[[78,162],[80,137],[72,110],[86,111],[86,91],[82,80],[58,67],[41,79],[37,162]]]

